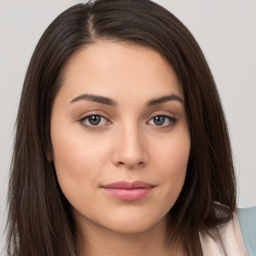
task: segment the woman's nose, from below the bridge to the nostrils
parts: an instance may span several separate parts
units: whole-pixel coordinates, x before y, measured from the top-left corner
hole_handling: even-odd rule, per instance
[[[140,168],[148,163],[146,141],[137,125],[120,127],[114,139],[112,161],[129,169]]]

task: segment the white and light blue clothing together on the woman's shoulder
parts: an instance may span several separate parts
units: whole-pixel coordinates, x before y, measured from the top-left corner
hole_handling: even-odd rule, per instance
[[[199,237],[204,256],[256,256],[256,206],[237,208],[230,221]]]

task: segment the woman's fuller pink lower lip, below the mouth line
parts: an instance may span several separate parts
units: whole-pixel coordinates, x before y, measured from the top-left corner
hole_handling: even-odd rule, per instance
[[[102,187],[102,189],[107,194],[115,198],[125,201],[136,201],[142,199],[144,196],[149,194],[152,191],[153,187],[139,187],[132,189]]]

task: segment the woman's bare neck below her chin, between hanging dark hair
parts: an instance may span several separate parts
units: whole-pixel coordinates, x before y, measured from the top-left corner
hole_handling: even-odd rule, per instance
[[[80,224],[79,256],[185,255],[166,239],[166,218],[138,233],[114,232],[89,221]]]

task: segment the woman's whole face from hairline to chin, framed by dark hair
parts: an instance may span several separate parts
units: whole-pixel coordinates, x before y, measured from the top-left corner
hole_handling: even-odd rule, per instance
[[[153,49],[100,41],[67,64],[52,108],[52,160],[75,220],[140,232],[166,218],[184,183],[183,92]]]

